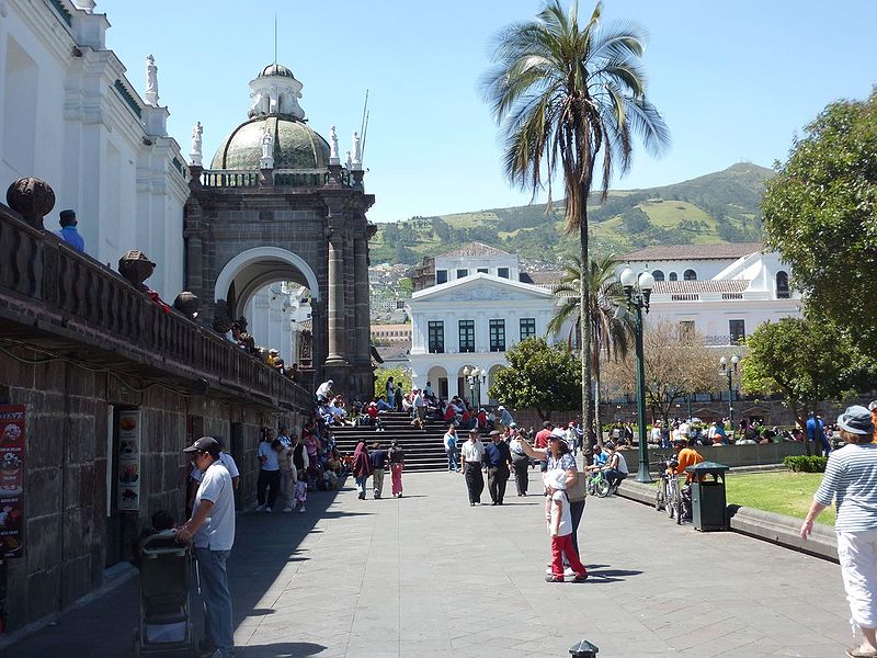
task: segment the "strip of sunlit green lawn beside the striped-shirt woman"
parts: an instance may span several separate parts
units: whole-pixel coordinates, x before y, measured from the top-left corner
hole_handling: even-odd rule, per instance
[[[804,519],[813,492],[822,481],[821,473],[752,473],[728,474],[728,504],[751,507],[777,514]],[[834,508],[822,512],[818,523],[834,525]]]

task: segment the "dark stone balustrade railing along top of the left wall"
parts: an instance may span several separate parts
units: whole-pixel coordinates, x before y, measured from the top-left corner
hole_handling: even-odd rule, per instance
[[[311,396],[212,329],[166,311],[119,274],[0,205],[0,308],[42,332],[189,379],[308,409]]]

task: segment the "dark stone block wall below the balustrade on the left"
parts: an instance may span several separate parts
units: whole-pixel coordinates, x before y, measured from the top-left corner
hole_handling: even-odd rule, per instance
[[[30,360],[38,358],[32,353]],[[24,557],[7,560],[5,571],[0,570],[8,631],[99,587],[107,566],[133,557],[134,543],[156,511],[184,520],[186,460],[181,451],[197,438],[196,430],[230,445],[241,470],[238,504],[248,508],[255,499],[260,427],[299,422],[298,415],[281,417],[248,400],[185,396],[145,385],[136,375],[123,382],[67,361],[29,364],[0,353],[0,404],[27,407]],[[107,486],[116,476],[112,408],[140,410],[139,512],[118,511],[115,496],[107,508]]]

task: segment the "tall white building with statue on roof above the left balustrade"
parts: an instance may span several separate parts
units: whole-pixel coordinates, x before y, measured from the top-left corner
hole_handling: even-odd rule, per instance
[[[106,49],[93,0],[0,1],[0,188],[35,175],[72,208],[90,256],[115,269],[129,249],[158,263],[148,285],[183,290],[187,169],[166,129],[155,68],[147,100]],[[144,57],[146,57],[144,53]]]

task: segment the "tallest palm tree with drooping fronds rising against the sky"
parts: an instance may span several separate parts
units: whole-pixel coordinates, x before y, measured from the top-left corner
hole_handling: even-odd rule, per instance
[[[485,97],[505,136],[505,175],[533,196],[562,175],[566,229],[579,232],[581,262],[588,262],[588,197],[600,167],[601,200],[614,173],[630,168],[633,138],[660,154],[670,135],[658,110],[646,100],[640,67],[642,31],[624,24],[603,27],[597,3],[591,20],[579,25],[579,3],[568,13],[560,0],[548,0],[535,20],[514,23],[497,36],[494,67],[487,73]],[[588,281],[580,281],[582,307]],[[591,332],[582,333],[582,420],[592,428]],[[585,441],[590,456],[590,442]]]

